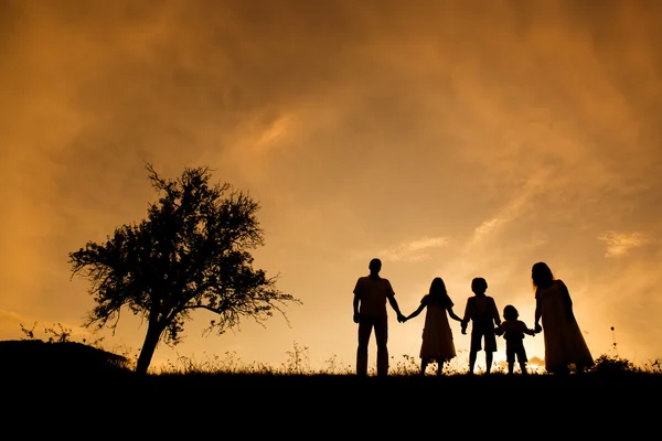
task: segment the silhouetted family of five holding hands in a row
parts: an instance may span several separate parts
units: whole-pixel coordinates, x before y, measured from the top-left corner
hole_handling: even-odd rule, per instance
[[[575,319],[568,288],[554,277],[545,262],[536,262],[531,271],[535,289],[533,329],[520,320],[520,313],[512,304],[503,309],[501,321],[496,301],[487,295],[488,282],[482,277],[471,280],[473,295],[467,299],[462,318],[455,313],[455,303],[440,277],[433,279],[429,291],[420,299],[418,308],[405,316],[395,299],[391,281],[380,276],[382,261],[373,258],[369,269],[367,276],[356,280],[353,291],[353,320],[359,324],[357,376],[367,376],[369,343],[373,330],[377,344],[377,376],[388,375],[386,303],[391,304],[399,323],[405,323],[426,311],[419,352],[421,376],[426,375],[430,363],[437,364],[437,376],[440,376],[445,364],[457,355],[449,318],[460,322],[462,334],[467,334],[467,327],[471,323],[469,375],[473,375],[478,353],[481,351],[485,353],[485,374],[491,373],[498,336],[503,337],[505,342],[509,375],[514,374],[515,362],[520,365],[521,373],[526,375],[528,358],[524,336],[535,336],[541,332],[545,344],[545,370],[549,374],[568,374],[572,366],[577,373],[581,373],[595,364]]]

